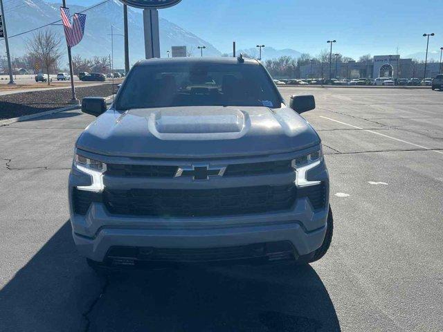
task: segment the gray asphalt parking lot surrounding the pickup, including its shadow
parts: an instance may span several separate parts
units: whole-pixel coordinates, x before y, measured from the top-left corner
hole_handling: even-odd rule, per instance
[[[97,277],[71,239],[79,111],[0,127],[0,331],[443,331],[443,93],[312,93],[334,239],[302,268]]]

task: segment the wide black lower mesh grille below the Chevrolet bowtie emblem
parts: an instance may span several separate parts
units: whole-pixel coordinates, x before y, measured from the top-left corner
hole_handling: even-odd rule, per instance
[[[223,216],[289,210],[295,185],[209,190],[105,190],[103,201],[114,214],[146,216]]]

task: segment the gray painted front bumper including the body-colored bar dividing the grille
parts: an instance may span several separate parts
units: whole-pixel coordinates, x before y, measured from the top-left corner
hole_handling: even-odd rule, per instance
[[[248,246],[254,243],[289,242],[293,258],[320,248],[326,233],[329,207],[329,180],[324,161],[308,173],[310,181],[325,185],[324,208],[315,209],[307,197],[296,199],[291,209],[260,214],[226,216],[133,216],[112,214],[105,203],[91,203],[86,214],[73,210],[73,189],[89,185],[89,176],[71,172],[69,201],[73,239],[81,255],[93,261],[105,261],[115,247],[204,249]],[[295,174],[244,176],[233,179],[211,178],[197,184],[191,180],[138,181],[109,178],[108,187],[242,187],[293,183]]]

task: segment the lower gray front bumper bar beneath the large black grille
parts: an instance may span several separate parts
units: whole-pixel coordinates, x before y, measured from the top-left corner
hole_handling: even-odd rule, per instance
[[[139,219],[111,216],[101,203],[93,203],[87,216],[71,216],[73,238],[81,255],[103,261],[113,246],[153,248],[218,248],[252,243],[289,241],[295,255],[307,255],[323,243],[327,210],[313,212],[307,199],[291,213],[226,218]],[[305,224],[316,225],[307,230]],[[97,228],[93,236],[75,229]]]

